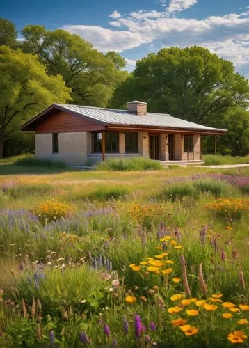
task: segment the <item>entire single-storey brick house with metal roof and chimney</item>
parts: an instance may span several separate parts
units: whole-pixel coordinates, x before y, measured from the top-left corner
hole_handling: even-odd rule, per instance
[[[127,110],[52,104],[26,122],[22,131],[35,132],[36,157],[66,164],[134,156],[200,161],[202,136],[216,139],[227,132],[149,113],[147,103],[137,100],[128,102]]]

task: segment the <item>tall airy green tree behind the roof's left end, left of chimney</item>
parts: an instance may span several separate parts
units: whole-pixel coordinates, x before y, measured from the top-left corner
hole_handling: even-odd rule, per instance
[[[24,52],[38,54],[49,74],[63,76],[74,104],[106,106],[115,86],[127,76],[120,70],[124,60],[118,54],[104,55],[79,35],[35,25],[26,26],[22,34]]]

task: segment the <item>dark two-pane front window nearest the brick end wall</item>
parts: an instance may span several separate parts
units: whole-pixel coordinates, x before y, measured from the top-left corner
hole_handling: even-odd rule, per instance
[[[118,132],[106,132],[105,152],[118,153]],[[93,133],[93,152],[102,152],[102,133]]]

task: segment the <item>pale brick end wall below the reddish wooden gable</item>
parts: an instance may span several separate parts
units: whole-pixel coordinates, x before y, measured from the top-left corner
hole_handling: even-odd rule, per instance
[[[59,133],[59,152],[52,151],[52,134],[35,134],[35,156],[62,161],[65,164],[85,164],[87,161],[87,132]]]

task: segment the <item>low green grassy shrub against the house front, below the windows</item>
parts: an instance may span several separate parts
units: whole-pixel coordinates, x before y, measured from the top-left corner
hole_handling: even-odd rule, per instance
[[[113,158],[100,162],[95,166],[96,171],[159,171],[161,169],[163,169],[163,166],[159,161],[144,157]]]

